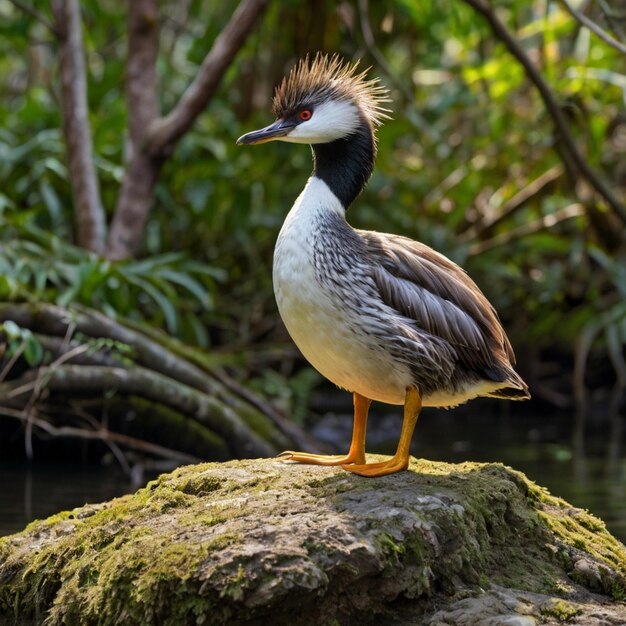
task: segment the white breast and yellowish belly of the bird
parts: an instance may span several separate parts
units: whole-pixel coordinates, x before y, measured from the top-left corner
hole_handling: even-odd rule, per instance
[[[373,400],[402,404],[411,384],[408,368],[395,363],[360,326],[367,320],[355,317],[341,294],[316,276],[313,242],[328,212],[343,218],[344,208],[322,180],[312,177],[276,242],[273,278],[281,317],[305,358],[323,376]]]

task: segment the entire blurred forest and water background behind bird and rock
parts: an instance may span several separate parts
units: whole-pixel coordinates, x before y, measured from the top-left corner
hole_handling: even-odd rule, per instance
[[[347,449],[351,396],[272,293],[310,150],[235,146],[321,50],[391,94],[349,221],[466,268],[533,395],[425,410],[413,453],[625,540],[626,12],[569,1],[0,0],[0,535],[181,463]],[[399,425],[373,406],[368,451]]]

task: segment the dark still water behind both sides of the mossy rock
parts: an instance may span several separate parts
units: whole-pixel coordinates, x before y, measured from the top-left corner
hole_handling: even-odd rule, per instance
[[[324,418],[315,432],[346,448],[352,419]],[[368,451],[389,453],[399,432],[399,411],[373,415]],[[420,417],[412,452],[440,461],[499,461],[525,472],[554,495],[602,518],[626,542],[626,453],[623,435],[607,424],[587,428],[584,454],[571,445],[571,419],[493,417],[480,411],[428,412]],[[588,432],[587,432],[588,431]],[[345,442],[345,443],[344,443]],[[0,464],[0,536],[33,519],[133,490],[115,467]]]

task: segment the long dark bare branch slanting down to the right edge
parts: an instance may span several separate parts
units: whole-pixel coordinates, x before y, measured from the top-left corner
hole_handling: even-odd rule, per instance
[[[550,87],[543,80],[541,74],[528,58],[524,49],[511,35],[506,26],[504,26],[504,24],[498,19],[494,10],[485,4],[483,0],[463,1],[486,18],[495,36],[506,45],[509,52],[524,68],[528,79],[537,88],[537,91],[539,92],[539,95],[541,96],[541,99],[543,100],[543,103],[552,118],[554,126],[561,139],[563,149],[566,150],[568,155],[571,157],[572,163],[575,165],[579,174],[589,182],[596,192],[602,196],[607,204],[613,209],[619,219],[626,224],[626,207],[618,200],[618,198],[615,197],[613,192],[600,178],[600,176],[598,176],[598,174],[591,168],[587,161],[585,161],[584,157],[579,152],[576,142],[569,131],[563,112],[556,102]]]

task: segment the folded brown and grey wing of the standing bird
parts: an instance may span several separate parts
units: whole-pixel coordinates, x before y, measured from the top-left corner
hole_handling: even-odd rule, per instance
[[[494,308],[458,265],[406,237],[358,233],[374,261],[374,281],[386,304],[455,346],[469,367],[515,363]]]

